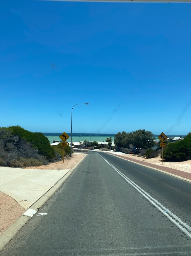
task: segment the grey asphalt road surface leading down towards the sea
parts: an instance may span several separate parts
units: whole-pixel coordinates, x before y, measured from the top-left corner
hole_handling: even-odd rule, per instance
[[[191,237],[146,199],[137,185],[176,213],[186,197],[185,221],[191,215],[191,183],[157,173],[90,152],[0,255],[190,256]],[[124,179],[124,174],[137,185]]]

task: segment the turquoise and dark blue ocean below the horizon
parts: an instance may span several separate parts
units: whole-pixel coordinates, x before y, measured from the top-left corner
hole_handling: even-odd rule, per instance
[[[70,132],[66,132],[69,136],[71,136],[71,133]],[[48,140],[50,141],[50,143],[53,142],[53,140],[58,140],[60,141],[60,138],[59,136],[62,134],[62,132],[51,132],[51,133],[48,133],[48,132],[44,132],[44,135],[48,138]],[[158,139],[158,136],[160,134],[154,134],[154,137],[156,140],[159,141]],[[185,135],[167,135],[166,136],[168,137],[185,137]],[[112,137],[112,142],[114,142],[114,137],[115,137],[115,133],[72,133],[72,142],[83,142],[84,140],[86,141],[100,141],[100,142],[103,142],[105,141],[105,139],[107,137]],[[70,142],[71,138],[67,139],[66,142]]]

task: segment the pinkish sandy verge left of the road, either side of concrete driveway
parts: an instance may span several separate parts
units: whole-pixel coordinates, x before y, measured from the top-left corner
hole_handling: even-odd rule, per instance
[[[72,157],[64,157],[63,160],[38,167],[27,167],[27,169],[71,169],[85,154],[72,154]],[[16,169],[16,168],[15,168]],[[12,197],[0,192],[0,235],[10,227],[24,212],[25,208],[18,204]]]

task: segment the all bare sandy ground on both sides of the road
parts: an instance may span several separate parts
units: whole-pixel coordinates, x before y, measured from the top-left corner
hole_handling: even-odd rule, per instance
[[[96,150],[97,151],[97,150]],[[109,151],[110,152],[110,151]],[[130,158],[131,155],[122,152],[112,151],[111,153],[117,155],[123,155]],[[72,157],[64,157],[63,160],[55,163],[50,163],[48,165],[42,165],[38,167],[27,167],[27,169],[71,169],[74,167],[85,154],[74,153]],[[132,155],[132,159],[138,159],[143,162],[149,162],[156,165],[162,165],[161,157],[147,159],[145,157],[138,157],[137,155]],[[191,173],[191,160],[184,162],[164,162],[164,166],[177,169],[184,172]],[[15,222],[23,213],[25,209],[21,207],[12,197],[0,192],[0,235],[9,227],[13,222]]]

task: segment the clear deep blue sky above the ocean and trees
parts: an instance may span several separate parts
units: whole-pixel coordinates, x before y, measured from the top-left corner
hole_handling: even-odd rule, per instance
[[[3,1],[0,127],[191,132],[191,4]]]

